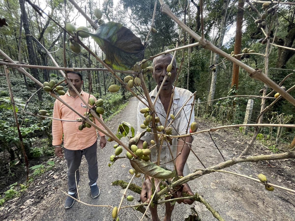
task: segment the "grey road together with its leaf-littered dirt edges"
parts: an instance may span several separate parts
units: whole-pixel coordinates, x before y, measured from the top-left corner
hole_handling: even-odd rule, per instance
[[[128,106],[122,110],[112,121],[107,125],[116,131],[118,124],[122,121],[127,121],[134,126],[136,130],[137,118],[135,117],[138,101],[132,98]],[[208,128],[205,123],[200,123],[199,130]],[[223,148],[229,149],[242,149],[242,138],[232,137],[232,135],[226,134],[224,131],[218,131],[212,133],[217,145]],[[127,140],[124,140],[127,143]],[[214,147],[214,144],[209,137],[209,134],[198,134],[195,137],[194,145]],[[127,160],[118,160],[110,168],[108,167],[109,156],[113,154],[114,149],[112,146],[114,142],[107,143],[107,146],[98,150],[98,167],[99,167],[99,179],[98,185],[101,189],[101,194],[98,199],[91,199],[89,194],[88,176],[87,176],[87,163],[83,159],[80,170],[80,183],[79,194],[80,199],[83,202],[97,205],[113,205],[118,206],[122,197],[122,189],[116,186],[112,186],[111,182],[117,179],[129,181],[131,176],[128,170],[131,168]],[[215,165],[223,161],[217,149],[208,149],[193,146],[193,149],[198,154],[199,158],[206,166]],[[237,156],[239,151],[221,150],[226,160]],[[290,162],[288,162],[290,163]],[[202,168],[202,165],[196,159],[194,154],[190,154],[188,164],[193,172],[197,168]],[[257,173],[264,172],[269,180],[274,184],[286,186],[292,188],[294,183],[279,182],[279,175],[273,174],[268,171],[267,167],[271,165],[268,162],[266,166],[260,163],[243,163],[239,165],[227,168],[229,171],[237,172],[244,175],[257,176]],[[290,165],[291,166],[291,165]],[[52,178],[53,174],[46,174],[43,176],[43,181],[40,180],[36,184],[35,188],[28,193],[35,194],[35,196],[23,200],[23,209],[17,210],[16,208],[9,209],[10,214],[13,216],[6,216],[6,220],[111,220],[111,211],[106,207],[90,207],[81,203],[75,203],[69,210],[63,209],[63,203],[65,196],[53,189],[55,185],[61,187],[61,189],[67,191],[66,187],[66,164],[65,161],[59,161],[57,167],[60,168],[56,174],[56,179]],[[50,175],[49,175],[50,174]],[[273,175],[275,179],[271,177]],[[286,174],[285,174],[286,175]],[[284,176],[284,175],[281,175]],[[281,180],[281,179],[280,179]],[[284,181],[284,180],[283,180]],[[141,185],[141,179],[136,178],[134,183]],[[286,185],[285,185],[286,184]],[[189,185],[193,192],[198,192],[203,195],[204,198],[221,214],[225,220],[295,220],[295,199],[291,193],[286,193],[276,189],[273,192],[268,192],[264,187],[257,182],[252,182],[249,179],[240,179],[231,174],[224,173],[211,173],[204,175],[196,180],[189,182]],[[294,186],[293,186],[294,189]],[[35,192],[34,192],[35,190]],[[37,193],[39,194],[36,194]],[[129,191],[128,194],[132,194],[135,197],[133,204],[139,200],[139,195]],[[39,196],[39,197],[36,197]],[[44,197],[45,196],[45,197]],[[37,198],[37,199],[36,199]],[[45,199],[44,199],[45,198]],[[12,200],[12,204],[17,206],[17,200]],[[131,202],[124,201],[123,205],[131,204]],[[202,220],[215,220],[212,214],[199,202],[193,204]],[[190,205],[177,204],[176,209],[173,211],[172,220],[184,220],[189,214]],[[163,220],[164,210],[162,206],[158,207],[159,217]],[[7,209],[8,210],[8,209]],[[17,216],[15,212],[19,212]],[[6,214],[9,214],[8,212]],[[0,213],[1,215],[1,213]],[[139,220],[141,213],[134,211],[131,208],[122,210],[120,212],[120,220]],[[148,213],[149,217],[150,214]],[[139,218],[138,218],[139,217]],[[0,219],[1,220],[1,219]],[[145,218],[145,220],[150,220]]]

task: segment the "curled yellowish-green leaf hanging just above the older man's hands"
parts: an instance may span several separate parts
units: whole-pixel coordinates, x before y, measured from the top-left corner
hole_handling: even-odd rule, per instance
[[[142,161],[139,159],[130,160],[131,166],[135,171],[146,174],[156,179],[169,179],[175,177],[175,171],[165,170],[151,161]]]

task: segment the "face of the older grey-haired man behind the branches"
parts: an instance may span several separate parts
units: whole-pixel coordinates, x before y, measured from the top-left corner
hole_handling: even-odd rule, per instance
[[[165,57],[160,57],[158,60],[156,60],[155,67],[153,70],[153,78],[155,79],[157,85],[160,87],[164,77],[167,73],[167,66],[170,65],[171,62],[171,57],[165,56]],[[172,70],[171,70],[171,77],[167,77],[162,90],[168,90],[169,88],[172,87],[175,77],[177,73],[177,67],[175,67],[174,64],[172,64]]]

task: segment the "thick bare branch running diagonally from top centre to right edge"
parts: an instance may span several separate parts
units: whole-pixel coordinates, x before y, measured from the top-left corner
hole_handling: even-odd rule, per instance
[[[225,53],[224,51],[222,51],[221,49],[219,49],[218,47],[216,47],[215,45],[213,45],[211,42],[207,41],[206,39],[201,39],[201,37],[198,34],[196,34],[194,31],[192,31],[188,26],[186,26],[185,24],[183,24],[172,13],[172,11],[170,10],[169,6],[167,4],[164,4],[163,0],[159,0],[159,1],[160,1],[160,4],[161,4],[161,11],[164,14],[167,14],[169,17],[171,17],[180,27],[183,28],[183,30],[185,30],[186,32],[188,32],[205,49],[212,50],[213,52],[218,53],[219,55],[221,55],[221,56],[227,58],[228,60],[236,63],[237,65],[239,65],[240,67],[242,67],[243,69],[245,69],[246,71],[248,71],[249,72],[249,76],[251,78],[254,78],[254,79],[257,79],[257,80],[262,81],[263,83],[266,83],[268,86],[270,86],[271,88],[273,88],[274,90],[276,90],[278,93],[280,93],[283,96],[283,98],[285,98],[292,105],[295,106],[295,99],[290,94],[286,93],[286,91],[284,91],[281,87],[279,87],[269,77],[265,76],[261,70],[255,70],[255,69],[253,69],[252,67],[246,65],[245,63],[241,62],[240,60],[237,60],[234,57],[228,55],[227,53]],[[268,39],[268,42],[269,42],[269,39]]]

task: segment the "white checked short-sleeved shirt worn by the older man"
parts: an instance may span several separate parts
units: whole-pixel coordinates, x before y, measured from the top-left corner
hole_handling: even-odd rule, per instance
[[[158,93],[158,88],[156,86],[156,88],[150,92],[150,98],[151,98],[152,102],[154,102],[157,93]],[[172,121],[170,114],[173,114],[175,116],[176,113],[182,107],[182,105],[186,102],[186,100],[189,99],[189,97],[191,95],[192,95],[192,93],[189,90],[175,87],[174,95],[173,95],[173,104],[171,105],[171,109],[168,114],[169,116],[168,116],[168,121],[167,121],[166,126],[170,123],[170,121]],[[178,135],[178,133],[179,133],[179,135],[186,134],[186,128],[188,126],[189,116],[191,113],[191,104],[193,103],[193,100],[194,100],[194,96],[192,96],[192,98],[186,103],[186,106],[184,106],[181,113],[178,115],[177,118],[175,118],[174,122],[171,124],[171,127],[173,128],[172,135]],[[146,100],[143,100],[143,101],[145,103],[147,103]],[[145,129],[140,128],[140,125],[145,120],[145,117],[143,116],[143,114],[140,113],[140,109],[145,108],[145,107],[146,106],[142,102],[138,103],[138,106],[137,106],[137,130],[138,131],[137,131],[137,133],[141,133],[142,131],[145,130]],[[155,103],[155,111],[156,111],[157,116],[160,118],[160,122],[162,124],[164,124],[165,119],[166,119],[166,112],[165,112],[164,106],[161,103],[161,100],[159,97]],[[189,122],[189,125],[192,122],[194,122],[194,120],[195,120],[195,117],[194,117],[194,108],[193,108],[193,112],[191,115],[191,120]],[[178,131],[178,133],[174,130],[174,128]],[[150,141],[153,139],[154,139],[154,134],[148,133],[148,132],[146,132],[145,135],[142,136],[142,138],[141,138],[141,140],[147,141],[149,143],[149,146],[152,146],[150,144]],[[170,146],[170,148],[171,148],[171,152],[172,152],[174,158],[177,155],[177,143],[178,143],[178,139],[173,138],[172,146]],[[166,142],[164,141],[163,144],[166,144]],[[174,170],[173,161],[169,162],[171,160],[172,160],[172,157],[171,157],[168,146],[163,145],[162,149],[161,149],[161,153],[160,153],[160,166],[162,166],[162,167],[165,166],[166,169],[173,171]],[[154,161],[154,162],[157,161],[156,148],[151,149],[151,161]],[[169,163],[167,163],[167,162],[169,162]],[[184,166],[184,169],[183,169],[183,175],[186,176],[189,173],[190,173],[189,167],[186,163]]]

